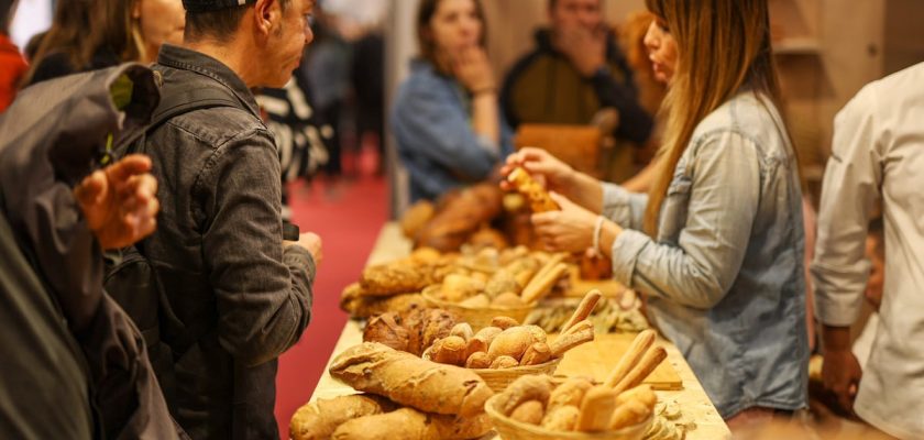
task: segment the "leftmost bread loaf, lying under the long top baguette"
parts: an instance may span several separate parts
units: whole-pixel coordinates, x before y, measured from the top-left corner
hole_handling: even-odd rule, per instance
[[[298,408],[289,422],[292,440],[324,440],[341,424],[394,409],[395,404],[374,395],[355,394],[318,400]]]

